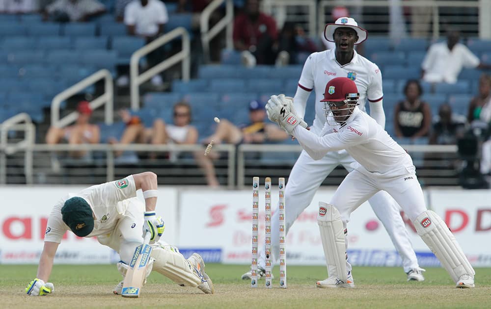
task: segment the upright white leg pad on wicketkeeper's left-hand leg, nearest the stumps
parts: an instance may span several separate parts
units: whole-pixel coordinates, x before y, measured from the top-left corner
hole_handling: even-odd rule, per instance
[[[319,202],[317,224],[321,232],[322,247],[326,257],[329,276],[336,276],[347,283],[346,243],[344,239],[343,221],[336,207]],[[336,273],[332,271],[335,269]]]

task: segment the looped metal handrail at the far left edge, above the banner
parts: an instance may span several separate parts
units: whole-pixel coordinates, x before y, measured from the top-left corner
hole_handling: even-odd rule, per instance
[[[9,130],[23,130],[24,139],[13,145],[8,143]],[[36,128],[27,113],[20,113],[8,118],[0,124],[0,183],[6,183],[7,178],[7,154],[15,154],[18,151],[25,151],[24,154],[24,175],[26,183],[32,183],[32,145],[36,140]]]

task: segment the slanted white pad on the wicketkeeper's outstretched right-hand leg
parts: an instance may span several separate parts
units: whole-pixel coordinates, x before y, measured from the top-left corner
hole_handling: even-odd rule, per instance
[[[421,213],[413,224],[418,235],[440,260],[455,283],[462,275],[475,274],[455,236],[434,211],[426,210]]]

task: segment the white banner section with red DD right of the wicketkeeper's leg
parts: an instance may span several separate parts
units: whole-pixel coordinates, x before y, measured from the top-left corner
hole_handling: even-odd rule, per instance
[[[491,190],[431,190],[433,210],[454,233],[472,265],[491,266]]]

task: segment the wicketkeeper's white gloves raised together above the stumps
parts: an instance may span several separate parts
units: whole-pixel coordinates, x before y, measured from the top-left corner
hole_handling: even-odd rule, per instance
[[[271,96],[271,99],[266,104],[266,113],[271,121],[277,123],[291,135],[293,129],[298,125],[307,128],[307,123],[292,113],[288,105],[288,103],[283,103],[278,96]]]

